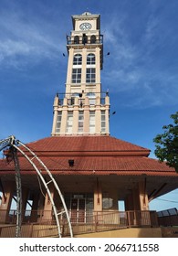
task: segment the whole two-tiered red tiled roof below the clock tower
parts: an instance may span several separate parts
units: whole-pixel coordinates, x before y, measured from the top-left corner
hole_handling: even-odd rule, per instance
[[[150,153],[148,149],[110,136],[49,137],[26,145],[36,152],[53,174],[141,175],[144,173],[155,176],[177,176],[173,168],[147,157]],[[74,159],[73,167],[69,167],[69,159]],[[22,173],[34,174],[33,166],[25,157],[19,157],[19,163]],[[37,166],[42,169],[39,164]],[[14,172],[14,164],[0,160],[0,175],[12,172]]]

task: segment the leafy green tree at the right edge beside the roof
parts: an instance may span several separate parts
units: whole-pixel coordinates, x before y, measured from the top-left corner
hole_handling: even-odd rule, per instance
[[[155,143],[154,154],[158,159],[174,167],[178,173],[178,112],[171,115],[173,124],[164,125],[163,133],[157,134],[153,139]]]

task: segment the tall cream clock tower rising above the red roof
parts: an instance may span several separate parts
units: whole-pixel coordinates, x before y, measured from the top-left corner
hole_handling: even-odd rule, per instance
[[[85,12],[72,16],[67,36],[66,91],[54,101],[52,136],[109,135],[109,93],[101,91],[103,36],[100,16]]]

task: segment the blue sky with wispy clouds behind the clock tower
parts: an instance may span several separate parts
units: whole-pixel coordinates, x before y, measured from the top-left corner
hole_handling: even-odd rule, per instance
[[[87,10],[101,15],[102,89],[116,111],[110,135],[155,157],[152,139],[178,111],[177,0],[0,0],[0,139],[50,136],[54,96],[65,91],[71,15]],[[175,190],[151,208],[178,207],[177,197]]]

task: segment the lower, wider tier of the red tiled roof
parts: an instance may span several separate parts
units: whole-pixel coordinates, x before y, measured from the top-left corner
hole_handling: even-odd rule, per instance
[[[148,157],[133,157],[133,156],[119,156],[119,157],[73,157],[74,166],[69,167],[68,157],[40,157],[47,168],[53,174],[59,175],[89,175],[97,173],[98,175],[109,175],[110,173],[116,175],[138,175],[141,173],[147,175],[161,175],[161,176],[178,176],[173,168],[162,164],[159,161]],[[22,173],[30,174],[34,168],[23,157],[19,158],[20,169]],[[35,164],[39,169],[42,169],[37,160]],[[5,160],[1,160],[0,174],[3,172],[14,170],[14,164],[11,162],[7,164]],[[80,173],[81,172],[81,173]]]

